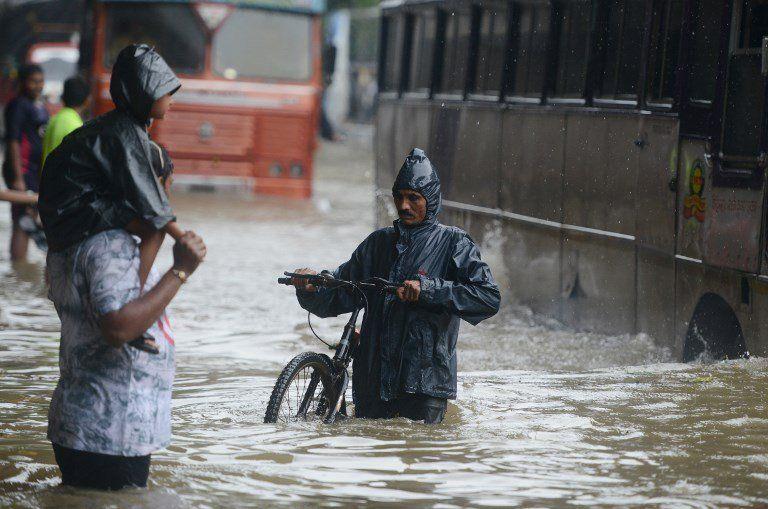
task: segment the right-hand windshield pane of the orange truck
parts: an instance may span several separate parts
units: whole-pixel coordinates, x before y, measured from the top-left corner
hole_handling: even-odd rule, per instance
[[[228,79],[306,81],[312,75],[312,18],[238,9],[213,38],[213,71]]]

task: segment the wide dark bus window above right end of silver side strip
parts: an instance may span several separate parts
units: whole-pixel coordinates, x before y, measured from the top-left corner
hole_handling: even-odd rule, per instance
[[[643,26],[644,0],[610,2],[603,36],[604,59],[599,83],[601,97],[637,99]]]

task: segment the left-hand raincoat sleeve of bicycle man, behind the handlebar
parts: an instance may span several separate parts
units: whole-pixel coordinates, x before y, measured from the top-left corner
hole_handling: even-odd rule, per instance
[[[352,253],[349,261],[341,264],[339,268],[333,271],[333,276],[347,281],[360,281],[365,279],[365,268],[370,267],[370,257],[374,251],[372,248],[373,235],[365,239],[355,252]],[[319,316],[327,318],[329,316],[338,316],[344,313],[351,313],[355,308],[361,307],[357,299],[347,290],[342,288],[321,288],[317,292],[305,292],[296,290],[296,296],[299,299],[301,307]]]

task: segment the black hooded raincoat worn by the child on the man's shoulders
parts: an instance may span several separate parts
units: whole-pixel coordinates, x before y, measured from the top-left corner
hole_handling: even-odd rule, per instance
[[[174,220],[152,172],[152,104],[181,82],[152,48],[123,49],[112,68],[115,109],[76,129],[45,160],[39,209],[48,245],[61,251],[140,217],[160,229]]]

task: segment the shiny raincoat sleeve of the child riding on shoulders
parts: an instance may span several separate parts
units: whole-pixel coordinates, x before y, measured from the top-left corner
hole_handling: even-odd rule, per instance
[[[147,221],[156,230],[175,221],[168,197],[152,171],[152,162],[147,143],[142,143],[137,133],[134,143],[115,141],[110,150],[113,161],[106,164],[113,166],[113,177],[122,189],[136,215]]]

